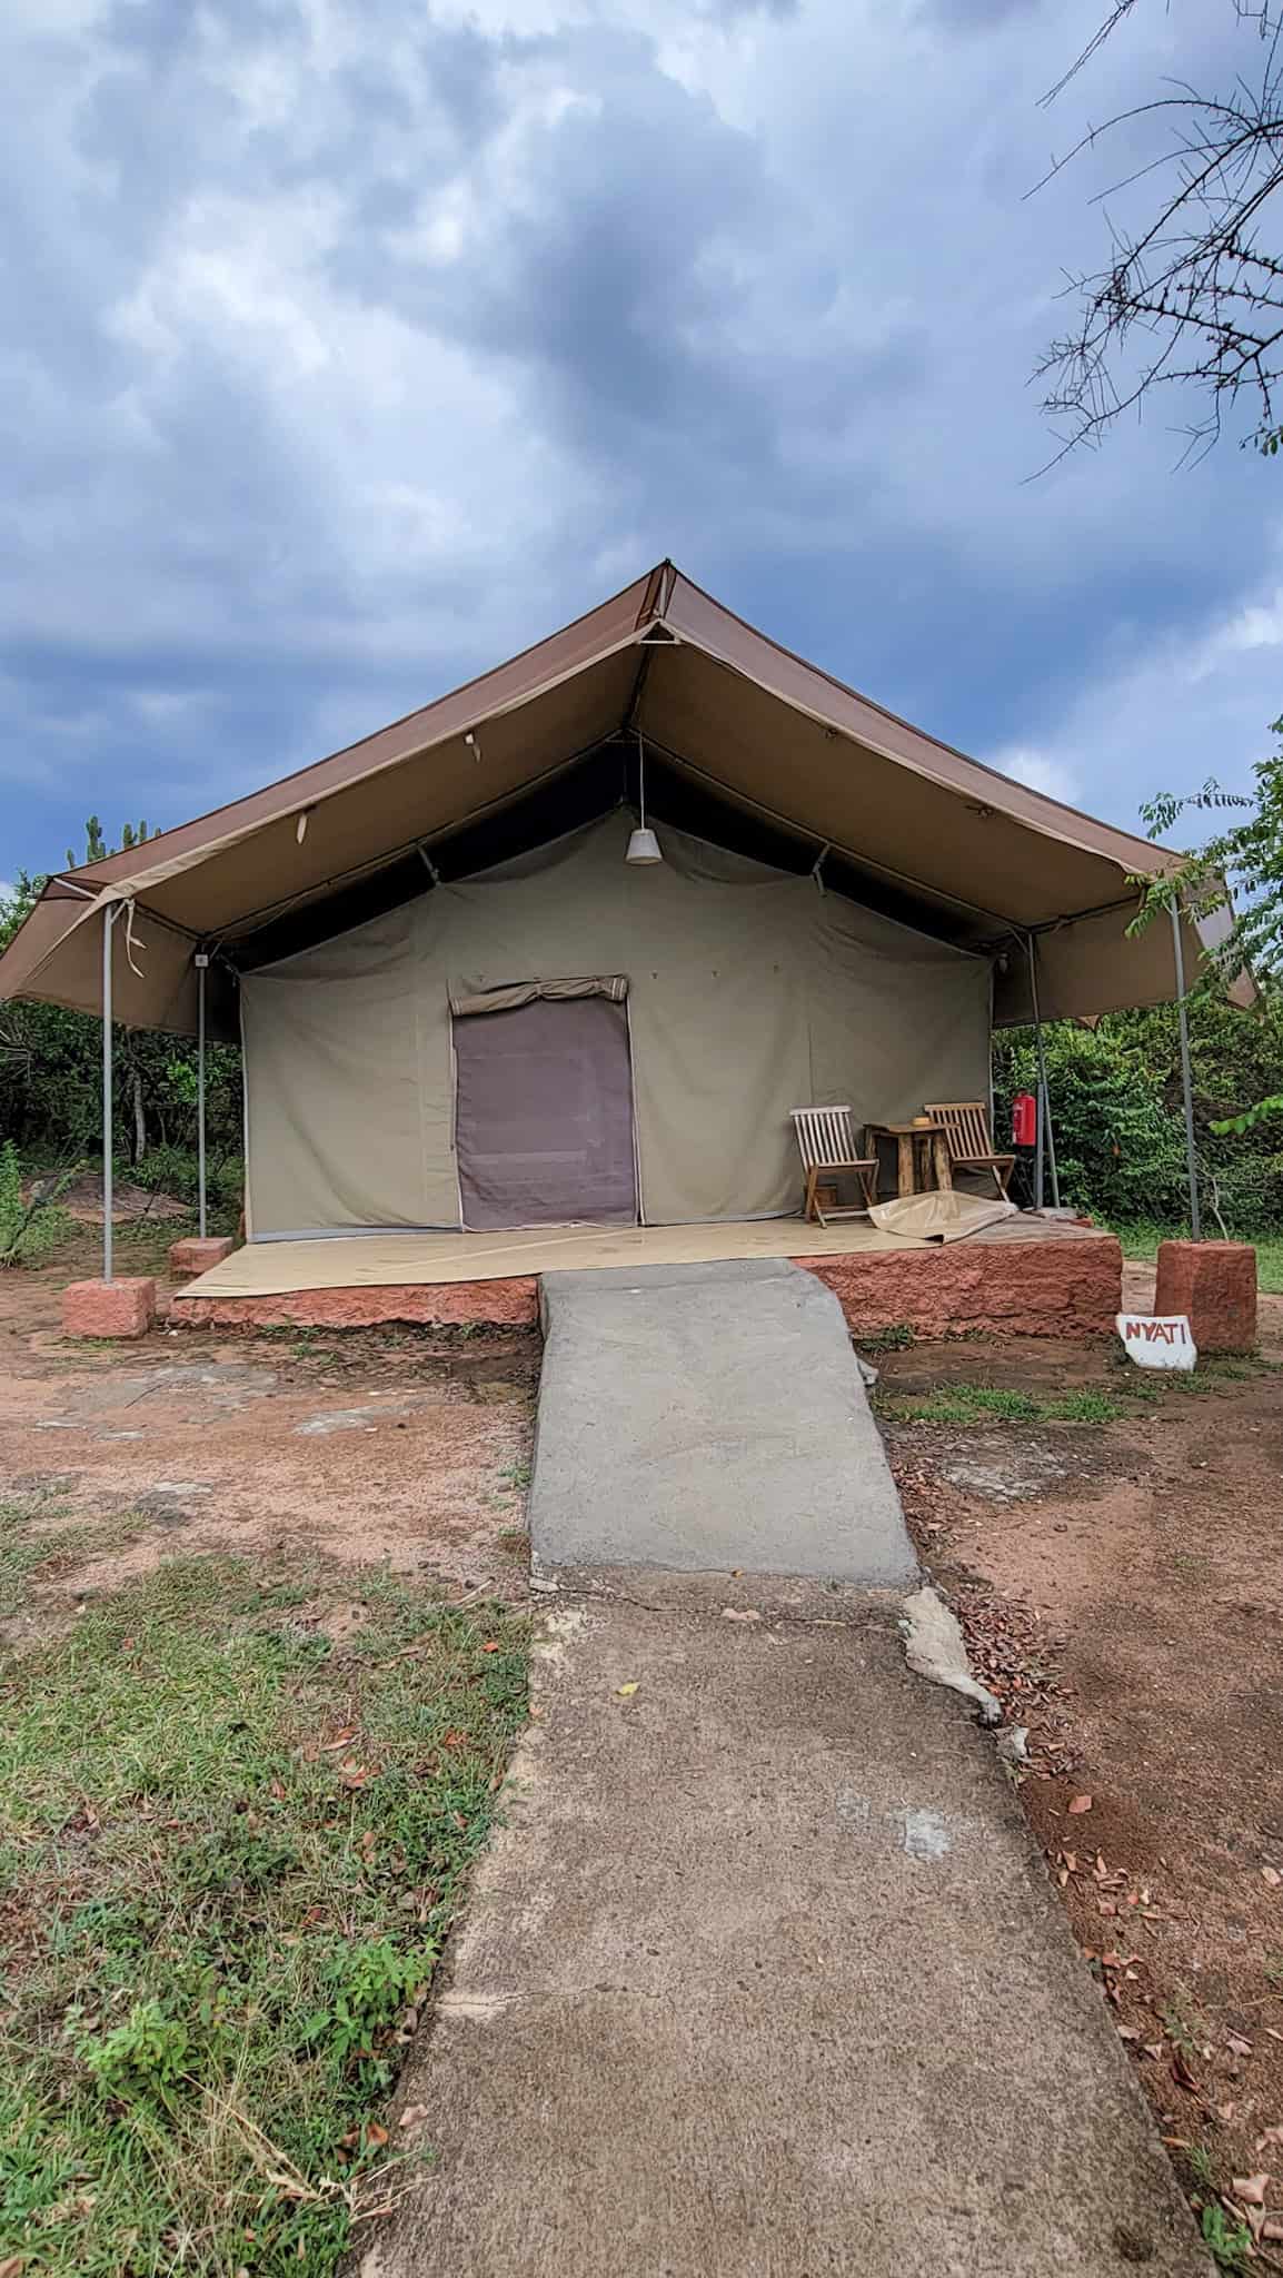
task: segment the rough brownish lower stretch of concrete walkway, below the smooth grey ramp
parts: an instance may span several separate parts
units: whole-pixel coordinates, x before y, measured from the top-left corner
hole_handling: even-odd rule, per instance
[[[397,2141],[435,2157],[365,2278],[1208,2271],[994,1745],[907,1672],[896,1601],[593,1592],[545,1617],[403,2087]]]

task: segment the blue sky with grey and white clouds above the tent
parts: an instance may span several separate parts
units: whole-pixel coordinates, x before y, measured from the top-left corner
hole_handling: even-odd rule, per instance
[[[1231,0],[9,0],[0,877],[180,822],[663,554],[1135,825],[1283,711],[1283,460],[1048,456],[1119,103]],[[1117,200],[1128,212],[1126,198]]]

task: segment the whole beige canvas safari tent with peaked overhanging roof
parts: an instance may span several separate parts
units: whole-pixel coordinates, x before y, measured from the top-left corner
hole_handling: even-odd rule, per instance
[[[624,861],[643,770],[652,868]],[[542,1207],[743,1219],[795,1198],[791,1105],[982,1096],[991,1021],[1180,995],[1206,929],[1128,934],[1135,875],[1174,861],[661,563],[362,743],[50,877],[0,995],[244,1032],[253,1235],[524,1223],[513,1166],[554,1155],[577,1169]]]

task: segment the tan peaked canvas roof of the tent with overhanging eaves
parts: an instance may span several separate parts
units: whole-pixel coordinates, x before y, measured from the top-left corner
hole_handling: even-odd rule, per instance
[[[672,563],[495,672],[264,790],[52,877],[0,959],[0,998],[100,1007],[105,900],[128,900],[116,1016],[196,1025],[196,948],[253,961],[289,913],[333,932],[344,893],[410,861],[428,884],[451,838],[533,800],[586,759],[640,736],[672,781],[727,813],[830,850],[843,891],[893,891],[923,929],[998,957],[996,1018],[1044,1018],[1176,993],[1171,934],[1130,941],[1128,877],[1176,857],[1010,781],[802,663]],[[458,875],[458,872],[456,872]],[[1185,920],[1194,970],[1206,941]],[[1007,952],[1007,954],[1003,954]],[[214,993],[214,1032],[235,1034]]]

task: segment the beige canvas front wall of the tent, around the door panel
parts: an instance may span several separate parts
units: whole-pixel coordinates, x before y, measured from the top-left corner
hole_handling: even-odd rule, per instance
[[[982,1098],[989,964],[627,816],[244,982],[251,1235],[456,1226],[449,995],[624,973],[652,1226],[798,1207],[788,1109]]]

